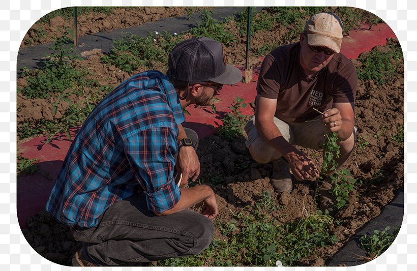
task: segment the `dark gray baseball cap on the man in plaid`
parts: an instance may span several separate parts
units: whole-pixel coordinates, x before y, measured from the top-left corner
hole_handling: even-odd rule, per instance
[[[168,74],[184,82],[207,82],[231,85],[242,80],[242,72],[226,64],[223,44],[205,37],[185,40],[172,49]]]

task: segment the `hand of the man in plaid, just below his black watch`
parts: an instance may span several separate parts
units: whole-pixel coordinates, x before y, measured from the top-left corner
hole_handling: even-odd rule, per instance
[[[192,182],[195,182],[198,175],[200,175],[200,161],[198,160],[194,147],[181,147],[180,152],[178,152],[178,158],[175,166],[178,174],[183,174],[180,187],[185,187],[188,183],[188,179],[191,177]]]

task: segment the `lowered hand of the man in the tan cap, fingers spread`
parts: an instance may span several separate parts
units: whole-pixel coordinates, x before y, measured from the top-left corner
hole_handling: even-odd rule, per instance
[[[295,149],[287,153],[284,157],[287,159],[292,174],[297,180],[307,180],[319,176],[319,172],[313,161],[299,150]]]

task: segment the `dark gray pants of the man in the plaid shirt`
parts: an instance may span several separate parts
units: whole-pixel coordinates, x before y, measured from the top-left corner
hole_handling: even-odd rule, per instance
[[[198,137],[190,130],[187,136],[196,147]],[[84,243],[83,257],[100,265],[125,265],[196,255],[210,245],[214,225],[191,210],[156,216],[142,192],[107,208],[97,226],[73,230],[74,238]]]

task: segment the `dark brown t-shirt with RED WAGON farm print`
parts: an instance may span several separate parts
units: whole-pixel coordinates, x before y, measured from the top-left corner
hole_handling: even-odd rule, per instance
[[[356,69],[343,54],[336,53],[316,76],[308,78],[299,61],[300,42],[280,46],[266,55],[259,73],[258,95],[277,99],[275,116],[301,123],[318,116],[333,103],[353,103]]]

